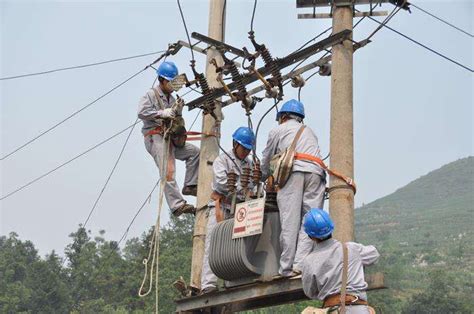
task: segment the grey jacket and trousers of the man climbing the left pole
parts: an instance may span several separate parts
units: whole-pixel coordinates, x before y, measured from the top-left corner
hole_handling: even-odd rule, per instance
[[[145,96],[140,99],[138,104],[138,117],[143,120],[143,135],[149,131],[160,127],[163,124],[163,120],[160,118],[164,109],[171,108],[175,103],[175,99],[172,95],[169,98],[163,93],[160,87],[155,87],[157,94],[160,99],[157,99],[155,92],[150,89]],[[160,175],[163,173],[163,136],[160,134],[145,136],[145,147],[146,150],[155,160],[158,166]],[[169,149],[169,162],[172,164],[173,169],[176,168],[176,159],[184,160],[186,162],[186,174],[184,178],[184,185],[197,185],[198,178],[198,167],[199,167],[199,148],[196,146],[186,143],[184,147],[174,147],[170,145]],[[165,179],[165,178],[163,178]],[[164,194],[166,202],[168,203],[171,211],[175,211],[177,208],[186,203],[181,192],[179,191],[178,185],[176,184],[175,172],[171,178],[166,182]]]

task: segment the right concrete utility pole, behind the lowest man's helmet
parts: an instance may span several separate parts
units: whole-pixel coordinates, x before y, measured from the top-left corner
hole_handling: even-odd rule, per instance
[[[352,30],[351,3],[334,1],[333,33]],[[330,168],[354,178],[353,131],[353,47],[346,40],[332,48]],[[329,210],[334,220],[334,237],[340,241],[354,240],[354,192],[344,181],[330,178]]]

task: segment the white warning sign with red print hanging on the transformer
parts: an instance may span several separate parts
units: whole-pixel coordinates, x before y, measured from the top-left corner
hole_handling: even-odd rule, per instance
[[[235,206],[232,239],[262,233],[265,198],[239,203]]]

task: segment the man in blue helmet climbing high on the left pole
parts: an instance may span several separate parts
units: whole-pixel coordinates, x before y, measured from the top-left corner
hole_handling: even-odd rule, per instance
[[[175,145],[174,141],[171,141],[169,149],[164,149],[164,143],[169,143],[163,137],[169,122],[184,120],[181,117],[182,107],[176,106],[176,100],[172,95],[173,87],[170,84],[170,81],[178,75],[178,68],[173,62],[165,61],[160,64],[156,72],[159,85],[150,89],[140,99],[138,117],[143,120],[142,133],[145,136],[146,150],[155,160],[162,179],[166,180],[164,188],[166,202],[172,214],[177,217],[184,213],[195,212],[195,207],[188,204],[182,194],[193,196],[197,194],[199,148],[190,143]],[[163,156],[166,152],[168,156]],[[167,159],[166,178],[163,178],[165,170],[162,169],[163,159]],[[176,159],[186,162],[182,194],[175,179]]]

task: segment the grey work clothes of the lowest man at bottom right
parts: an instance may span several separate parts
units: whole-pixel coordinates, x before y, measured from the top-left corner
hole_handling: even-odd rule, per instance
[[[372,245],[347,242],[348,271],[347,294],[367,301],[367,282],[364,266],[375,263],[380,254]],[[307,297],[323,301],[328,296],[341,292],[343,251],[341,242],[328,239],[317,243],[314,250],[303,260],[302,282]],[[366,305],[346,307],[347,313],[369,314]]]

